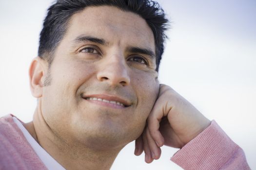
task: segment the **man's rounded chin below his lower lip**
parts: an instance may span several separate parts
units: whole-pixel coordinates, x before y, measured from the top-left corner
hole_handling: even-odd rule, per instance
[[[146,123],[144,117],[135,120],[130,119],[127,114],[111,112],[87,112],[79,115],[81,116],[71,121],[73,138],[82,145],[98,150],[124,147],[140,136]]]

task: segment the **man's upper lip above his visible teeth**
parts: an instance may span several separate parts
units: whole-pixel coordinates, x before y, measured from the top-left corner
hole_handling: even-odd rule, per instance
[[[105,99],[105,100],[108,100],[108,101],[115,101],[115,102],[120,102],[120,103],[123,103],[124,106],[130,106],[131,105],[131,102],[125,100],[125,99],[122,99],[118,96],[115,96],[115,95],[109,95],[109,94],[91,94],[91,95],[82,95],[82,98],[86,99],[86,98],[100,98],[100,99]]]

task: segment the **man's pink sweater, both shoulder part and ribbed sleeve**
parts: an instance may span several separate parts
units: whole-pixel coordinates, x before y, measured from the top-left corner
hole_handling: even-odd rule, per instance
[[[214,120],[171,160],[184,170],[250,170],[243,150]],[[0,170],[47,170],[12,115],[0,118]]]

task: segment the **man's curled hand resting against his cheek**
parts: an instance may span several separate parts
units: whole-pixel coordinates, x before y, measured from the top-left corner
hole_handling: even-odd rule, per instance
[[[145,152],[145,162],[161,155],[163,145],[182,148],[210,125],[190,102],[167,85],[160,85],[158,99],[147,119],[147,125],[136,139],[135,154]]]

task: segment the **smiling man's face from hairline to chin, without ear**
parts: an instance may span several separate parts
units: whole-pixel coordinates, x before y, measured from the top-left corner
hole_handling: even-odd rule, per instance
[[[116,7],[85,8],[71,17],[55,52],[43,118],[65,142],[124,146],[142,133],[158,95],[154,55],[143,18]]]

